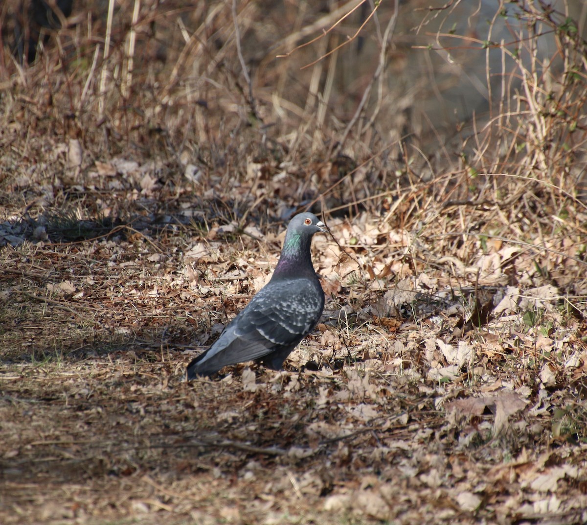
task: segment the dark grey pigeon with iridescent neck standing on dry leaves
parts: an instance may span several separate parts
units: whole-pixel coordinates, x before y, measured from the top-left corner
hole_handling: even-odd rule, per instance
[[[324,292],[312,266],[310,244],[314,233],[327,231],[313,213],[299,213],[289,222],[271,280],[225,327],[214,345],[188,365],[188,380],[252,359],[281,369],[322,315]]]

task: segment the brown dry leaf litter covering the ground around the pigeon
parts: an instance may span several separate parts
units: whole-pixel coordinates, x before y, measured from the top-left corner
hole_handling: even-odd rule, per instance
[[[314,246],[329,313],[286,371],[239,365],[193,384],[183,382],[193,343],[209,344],[215,323],[264,285],[277,240],[261,241],[266,265],[248,236],[184,233],[184,250],[169,235],[5,250],[2,267],[18,259],[28,279],[2,295],[20,309],[22,342],[5,352],[1,378],[4,523],[154,513],[201,523],[579,519],[586,445],[554,439],[547,407],[575,399],[565,382],[585,350],[562,326],[542,335],[521,318],[528,305],[554,315],[556,291],[506,287],[494,299],[500,316],[457,340],[463,310],[453,306],[466,311],[467,292],[443,295],[442,273],[416,279],[393,256],[374,263],[363,245],[383,229],[370,231],[360,246],[340,236],[352,264],[327,238]],[[392,273],[378,277],[386,265]],[[396,300],[400,286],[411,291]],[[407,302],[411,321],[400,312]],[[496,332],[504,313],[517,317]],[[549,359],[554,351],[568,367]]]

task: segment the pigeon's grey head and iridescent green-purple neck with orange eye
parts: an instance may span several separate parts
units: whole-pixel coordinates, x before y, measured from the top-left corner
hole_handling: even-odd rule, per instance
[[[326,225],[313,213],[298,213],[289,221],[285,232],[284,248],[275,267],[275,274],[315,273],[310,256],[314,233],[328,232]]]

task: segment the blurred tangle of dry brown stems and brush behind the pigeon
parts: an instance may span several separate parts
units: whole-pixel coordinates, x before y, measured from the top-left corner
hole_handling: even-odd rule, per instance
[[[415,183],[481,202],[544,179],[585,199],[580,0],[23,0],[0,16],[5,145],[31,138],[0,162],[52,143],[65,186],[116,189],[95,161],[122,155],[238,217],[387,213]]]

